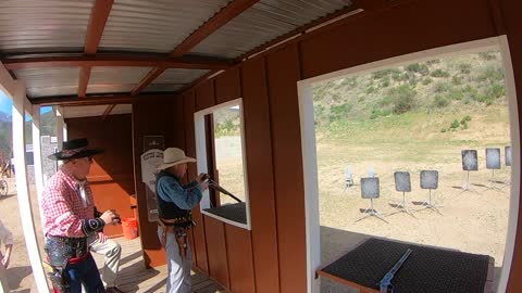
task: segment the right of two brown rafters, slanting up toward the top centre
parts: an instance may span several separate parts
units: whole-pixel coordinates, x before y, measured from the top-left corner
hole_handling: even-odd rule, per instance
[[[249,9],[259,0],[234,0],[225,8],[215,13],[209,21],[202,26],[196,29],[190,36],[183,40],[170,54],[171,58],[181,58],[190,51],[198,43],[203,41],[208,36],[217,30],[220,27],[234,20],[237,15],[241,14],[245,10]],[[132,94],[138,94],[148,85],[154,81],[166,68],[154,68],[147,74],[138,86],[133,89]]]

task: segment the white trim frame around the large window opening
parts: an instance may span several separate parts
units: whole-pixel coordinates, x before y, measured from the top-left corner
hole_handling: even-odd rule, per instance
[[[315,126],[313,119],[313,97],[312,84],[361,75],[389,67],[397,67],[411,62],[426,61],[434,58],[446,58],[457,54],[469,54],[486,50],[500,50],[506,73],[506,97],[510,111],[510,131],[512,143],[512,166],[511,166],[511,194],[509,222],[506,239],[504,266],[499,278],[498,292],[505,292],[513,258],[513,250],[517,235],[517,220],[519,216],[520,196],[520,136],[519,136],[519,113],[517,107],[517,95],[514,77],[509,53],[509,44],[506,36],[487,38],[476,41],[450,44],[436,49],[430,49],[411,54],[390,58],[350,68],[328,73],[322,76],[312,77],[297,82],[299,95],[299,117],[301,127],[302,168],[304,176],[304,208],[306,208],[306,237],[307,237],[307,292],[320,292],[320,279],[315,279],[315,271],[321,264],[321,243],[319,226],[319,184],[318,184],[318,162],[315,150]]]

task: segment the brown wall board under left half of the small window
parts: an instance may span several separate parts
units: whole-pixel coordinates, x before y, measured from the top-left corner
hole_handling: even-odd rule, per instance
[[[228,263],[226,257],[225,226],[214,218],[204,217],[204,232],[207,237],[207,255],[209,257],[209,275],[226,288],[228,282]],[[235,243],[235,242],[234,242]],[[231,244],[234,244],[231,243]]]

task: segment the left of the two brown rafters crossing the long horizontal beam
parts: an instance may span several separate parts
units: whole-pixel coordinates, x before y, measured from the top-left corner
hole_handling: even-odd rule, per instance
[[[89,26],[87,27],[87,36],[85,38],[85,54],[95,54],[98,52],[101,36],[105,29],[107,20],[111,13],[114,0],[96,0],[90,12]],[[87,85],[90,78],[90,66],[83,66],[79,72],[78,95],[85,97],[87,93]]]

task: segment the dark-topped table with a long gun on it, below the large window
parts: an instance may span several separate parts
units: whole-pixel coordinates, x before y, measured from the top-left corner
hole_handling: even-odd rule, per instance
[[[394,293],[493,292],[495,262],[490,256],[376,238],[365,240],[318,275],[361,293],[378,293],[378,282],[407,249],[412,253],[391,280]]]

